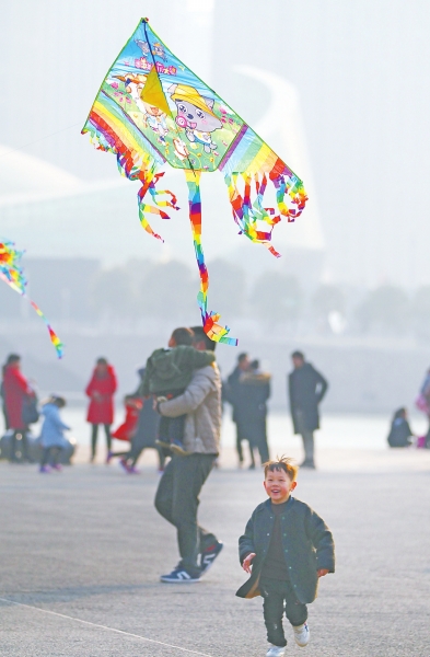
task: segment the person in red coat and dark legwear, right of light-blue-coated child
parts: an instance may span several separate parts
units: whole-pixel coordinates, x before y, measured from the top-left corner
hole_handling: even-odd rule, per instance
[[[91,423],[91,462],[95,459],[98,425],[104,425],[107,452],[111,451],[111,425],[114,422],[114,394],[117,383],[115,370],[106,360],[98,358],[85,393],[91,399],[86,422]]]

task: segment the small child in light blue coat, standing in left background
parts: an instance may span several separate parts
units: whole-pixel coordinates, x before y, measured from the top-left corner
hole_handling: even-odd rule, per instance
[[[60,396],[50,396],[42,407],[44,424],[40,433],[43,448],[40,472],[50,472],[50,469],[62,470],[59,460],[61,450],[66,447],[63,431],[70,429],[60,416],[60,408],[66,406],[66,400]]]

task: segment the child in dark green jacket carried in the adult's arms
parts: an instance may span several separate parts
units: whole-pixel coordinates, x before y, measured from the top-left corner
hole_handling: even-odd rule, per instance
[[[155,349],[148,358],[140,394],[153,394],[158,401],[173,399],[182,394],[190,383],[196,369],[214,362],[213,351],[198,351],[193,347],[194,331],[175,328],[168,341],[168,349]],[[158,443],[176,454],[186,454],[184,448],[185,415],[160,419]]]

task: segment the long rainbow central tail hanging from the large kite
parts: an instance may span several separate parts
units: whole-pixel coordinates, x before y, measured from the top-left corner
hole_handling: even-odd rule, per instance
[[[200,291],[197,296],[197,301],[200,307],[204,330],[210,339],[236,346],[237,341],[234,337],[228,337],[228,334],[230,333],[229,326],[224,327],[218,324],[220,315],[212,311],[208,312],[209,275],[201,246],[200,172],[186,170],[185,177],[188,185],[189,219],[191,222],[194,249],[200,274]]]

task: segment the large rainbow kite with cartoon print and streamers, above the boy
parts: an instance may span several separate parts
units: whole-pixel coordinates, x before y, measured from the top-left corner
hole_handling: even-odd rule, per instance
[[[201,172],[217,169],[224,175],[233,218],[253,242],[270,243],[271,231],[282,217],[294,221],[306,195],[302,181],[229,107],[220,96],[183,65],[152,32],[148,19],[139,22],[131,38],[105,77],[82,134],[95,148],[115,153],[123,175],[139,180],[139,218],[150,234],[161,240],[147,216],[168,219],[162,209],[178,209],[172,192],[158,191],[168,163],[183,169],[188,185],[189,218],[200,274],[197,300],[207,335],[236,345],[220,315],[208,311],[208,269],[201,246]],[[276,193],[276,208],[264,205],[268,183]],[[152,203],[148,203],[147,195]],[[164,199],[161,196],[164,195]]]

